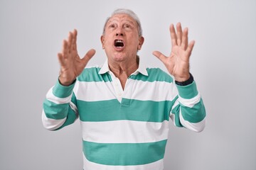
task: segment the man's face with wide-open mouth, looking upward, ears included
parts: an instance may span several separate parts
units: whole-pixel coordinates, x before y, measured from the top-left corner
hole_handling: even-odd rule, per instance
[[[116,14],[107,21],[101,41],[108,60],[122,62],[136,60],[144,38],[139,37],[137,22],[133,18],[127,14]]]

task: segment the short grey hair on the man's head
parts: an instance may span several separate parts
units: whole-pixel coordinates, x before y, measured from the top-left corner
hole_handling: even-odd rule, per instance
[[[130,9],[127,9],[127,8],[118,8],[116,9],[112,15],[110,17],[107,18],[107,20],[105,21],[105,24],[104,24],[104,28],[103,28],[103,33],[102,35],[105,35],[105,27],[107,25],[107,22],[110,20],[110,18],[116,14],[127,14],[128,16],[132,17],[134,19],[134,21],[137,22],[137,25],[138,25],[138,33],[139,33],[139,37],[142,36],[142,24],[141,22],[139,21],[139,17],[137,16],[136,13],[134,13],[134,11],[130,10]]]

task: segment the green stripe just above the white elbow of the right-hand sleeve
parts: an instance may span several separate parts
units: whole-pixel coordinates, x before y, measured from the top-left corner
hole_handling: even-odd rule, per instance
[[[203,106],[202,98],[193,108],[181,107],[181,114],[184,120],[190,123],[201,122],[206,117],[206,108]]]

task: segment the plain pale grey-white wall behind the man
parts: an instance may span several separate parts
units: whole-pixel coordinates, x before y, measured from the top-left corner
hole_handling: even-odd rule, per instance
[[[191,72],[207,111],[206,129],[170,125],[165,169],[256,169],[256,1],[0,0],[0,169],[82,169],[80,123],[50,132],[41,123],[46,92],[58,78],[57,52],[78,29],[78,52],[102,64],[102,27],[116,8],[132,9],[145,38],[139,52],[169,55],[169,25],[181,22],[196,40]]]

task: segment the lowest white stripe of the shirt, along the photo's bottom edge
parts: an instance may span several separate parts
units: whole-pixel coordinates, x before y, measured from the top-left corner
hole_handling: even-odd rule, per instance
[[[105,164],[96,164],[86,159],[83,154],[83,169],[84,170],[163,170],[164,160],[160,159],[157,162],[150,164],[136,165],[136,166],[110,166]]]

